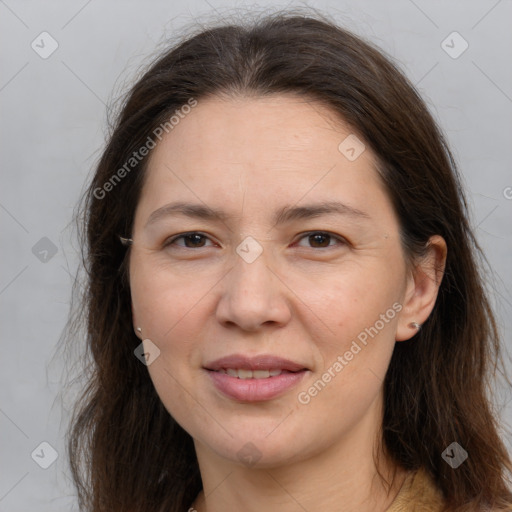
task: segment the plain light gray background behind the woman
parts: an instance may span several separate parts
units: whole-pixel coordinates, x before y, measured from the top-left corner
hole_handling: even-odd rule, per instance
[[[101,152],[105,104],[132,82],[163,39],[198,15],[286,5],[301,4],[0,0],[0,511],[77,509],[64,448],[69,403],[59,395],[64,360],[54,356],[78,262],[71,215]],[[511,348],[512,2],[324,0],[307,5],[397,59],[440,122],[495,273],[493,296]],[[46,59],[31,47],[35,40],[45,51],[50,48],[48,39],[38,38],[43,31],[59,45]],[[457,58],[464,47],[458,36],[442,47],[453,31],[469,45]],[[510,423],[510,390],[501,396]],[[35,462],[50,461],[51,451],[38,448],[41,442],[58,453],[48,469]]]

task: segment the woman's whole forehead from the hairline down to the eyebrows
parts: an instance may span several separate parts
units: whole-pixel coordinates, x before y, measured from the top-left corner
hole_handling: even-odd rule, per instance
[[[275,210],[279,201],[307,196],[354,207],[370,199],[378,207],[383,194],[371,150],[322,103],[293,95],[211,97],[199,100],[152,151],[141,202],[156,208],[189,199],[236,203],[237,210],[241,202],[276,203]]]

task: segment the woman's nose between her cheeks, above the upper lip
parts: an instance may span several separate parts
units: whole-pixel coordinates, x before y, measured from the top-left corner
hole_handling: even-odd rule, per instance
[[[222,280],[216,316],[225,327],[257,331],[265,325],[282,327],[290,321],[289,289],[268,260],[266,251],[252,263],[237,257]]]

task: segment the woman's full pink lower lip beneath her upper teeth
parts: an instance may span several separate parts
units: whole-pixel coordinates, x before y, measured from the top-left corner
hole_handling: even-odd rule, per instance
[[[296,386],[306,370],[289,372],[266,379],[239,379],[225,373],[207,370],[215,387],[226,396],[244,402],[271,400]]]

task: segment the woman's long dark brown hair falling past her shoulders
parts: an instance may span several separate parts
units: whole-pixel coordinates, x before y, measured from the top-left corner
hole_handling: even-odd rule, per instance
[[[447,510],[511,510],[512,465],[491,396],[502,363],[499,333],[454,159],[389,58],[324,15],[290,10],[199,27],[165,49],[111,127],[80,205],[87,283],[67,335],[77,343],[83,321],[86,386],[68,440],[81,508],[177,512],[202,488],[191,437],[133,353],[140,340],[131,318],[129,248],[119,235],[131,234],[147,156],[126,163],[191,99],[280,93],[323,102],[373,150],[411,262],[432,235],[448,245],[435,308],[413,342],[396,344],[385,378],[386,451],[405,469],[428,471]],[[441,456],[452,442],[469,455],[457,469]]]

